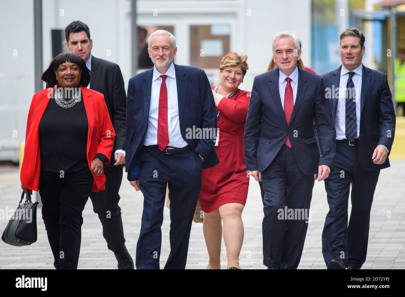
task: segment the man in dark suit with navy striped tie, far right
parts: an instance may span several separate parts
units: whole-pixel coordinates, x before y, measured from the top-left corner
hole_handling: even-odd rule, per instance
[[[336,129],[335,169],[325,179],[329,212],[322,253],[328,269],[360,269],[366,260],[371,203],[380,169],[390,166],[394,141],[387,75],[362,65],[364,41],[358,29],[346,29],[340,35],[342,65],[322,75]]]

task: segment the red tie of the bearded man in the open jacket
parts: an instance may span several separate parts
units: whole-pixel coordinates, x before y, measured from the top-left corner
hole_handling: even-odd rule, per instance
[[[159,114],[158,114],[158,146],[159,150],[163,151],[169,144],[169,133],[167,128],[167,88],[166,79],[167,75],[163,74],[162,84],[160,84],[159,94]]]

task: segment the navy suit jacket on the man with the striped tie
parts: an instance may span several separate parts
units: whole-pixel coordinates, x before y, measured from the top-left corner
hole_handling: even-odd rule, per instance
[[[330,90],[339,88],[341,68],[342,66],[322,74],[326,88],[330,88]],[[335,120],[338,97],[336,94],[330,97],[330,108],[333,120]],[[388,157],[383,164],[374,164],[371,157],[375,147],[380,144],[384,145],[388,149],[388,155],[390,154],[394,141],[395,120],[387,75],[363,65],[358,144],[360,167],[363,170],[379,170],[390,166]]]

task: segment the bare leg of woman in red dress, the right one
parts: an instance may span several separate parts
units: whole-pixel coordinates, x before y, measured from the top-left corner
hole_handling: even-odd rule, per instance
[[[239,268],[239,254],[243,243],[242,211],[245,206],[240,203],[227,203],[220,206],[220,215],[224,221],[224,242],[228,268]]]

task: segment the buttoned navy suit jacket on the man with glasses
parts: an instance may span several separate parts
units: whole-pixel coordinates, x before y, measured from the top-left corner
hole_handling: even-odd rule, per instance
[[[336,131],[328,103],[323,79],[298,68],[296,100],[287,124],[279,93],[279,69],[256,76],[245,125],[247,170],[264,171],[273,162],[287,136],[296,162],[305,175],[318,173],[319,165],[327,165],[333,170]]]

